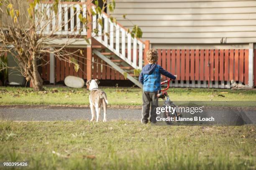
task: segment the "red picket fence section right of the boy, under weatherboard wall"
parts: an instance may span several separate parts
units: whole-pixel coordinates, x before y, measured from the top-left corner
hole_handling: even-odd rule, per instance
[[[248,84],[248,50],[158,50],[158,64],[177,80],[240,81]]]

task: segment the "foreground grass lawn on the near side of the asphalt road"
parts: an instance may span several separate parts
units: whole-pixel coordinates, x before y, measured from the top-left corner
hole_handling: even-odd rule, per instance
[[[1,121],[0,163],[28,162],[27,168],[33,170],[252,170],[255,130],[255,125]]]

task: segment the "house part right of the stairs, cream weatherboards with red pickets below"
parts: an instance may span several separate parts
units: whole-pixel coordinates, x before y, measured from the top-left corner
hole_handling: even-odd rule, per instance
[[[141,28],[159,64],[178,75],[173,86],[208,87],[210,80],[229,88],[235,80],[253,87],[255,10],[255,0],[116,0],[113,17]]]

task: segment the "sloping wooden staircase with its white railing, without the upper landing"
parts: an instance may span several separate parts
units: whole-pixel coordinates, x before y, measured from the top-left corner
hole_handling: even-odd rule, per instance
[[[93,4],[92,9],[95,10]],[[103,27],[97,23],[98,18],[102,20]],[[95,45],[92,44],[92,52],[142,88],[143,85],[138,81],[138,75],[134,75],[134,70],[142,69],[145,43],[133,38],[119,23],[113,23],[106,13],[92,16],[92,30],[94,29],[99,31],[97,35],[92,32],[92,37],[97,41]]]

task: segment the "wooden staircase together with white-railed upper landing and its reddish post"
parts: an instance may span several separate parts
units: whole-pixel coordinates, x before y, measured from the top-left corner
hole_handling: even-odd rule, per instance
[[[46,10],[47,16],[50,16],[52,5],[52,3],[42,2],[36,4],[35,10]],[[87,79],[92,78],[92,70],[89,66],[92,65],[93,52],[115,70],[127,77],[128,80],[131,80],[138,87],[142,87],[141,83],[138,81],[138,75],[134,75],[134,70],[142,69],[143,53],[145,55],[145,51],[148,50],[149,41],[143,42],[136,37],[132,37],[131,33],[128,32],[126,28],[119,23],[113,23],[110,16],[104,12],[93,16],[90,12],[89,14],[87,13],[87,11],[91,10],[94,10],[96,13],[95,8],[96,6],[89,1],[86,3],[60,3],[58,5],[56,18],[54,18],[52,23],[46,25],[46,27],[42,23],[40,28],[44,30],[44,34],[49,34],[54,31],[54,28],[57,28],[54,32],[56,35],[75,35],[74,41],[80,40],[82,36],[87,36],[87,38],[90,39],[91,43],[82,43],[85,42],[84,40],[78,42],[81,43],[79,45],[82,45],[82,47],[87,47]],[[55,16],[55,14],[52,15]],[[79,15],[92,21],[92,24],[85,27],[79,20]],[[98,19],[102,20],[102,25],[97,22]],[[36,22],[41,21],[36,19]],[[81,32],[79,31],[80,28],[82,29]],[[98,30],[97,34],[93,31],[95,29]],[[40,33],[39,30],[37,31],[38,33]],[[62,42],[64,39],[60,41]],[[56,43],[56,45],[58,45],[58,43]]]

